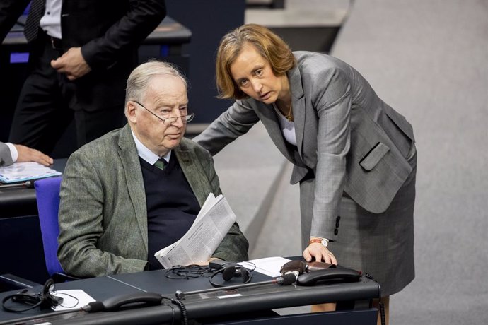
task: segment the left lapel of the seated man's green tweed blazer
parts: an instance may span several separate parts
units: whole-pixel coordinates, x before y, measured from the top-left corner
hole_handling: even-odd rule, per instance
[[[144,190],[144,179],[142,179],[139,155],[137,154],[136,144],[134,143],[134,138],[132,138],[129,124],[126,124],[122,129],[119,147],[119,156],[125,173],[127,190],[134,207],[139,231],[144,239],[144,246],[148,249],[146,191]]]

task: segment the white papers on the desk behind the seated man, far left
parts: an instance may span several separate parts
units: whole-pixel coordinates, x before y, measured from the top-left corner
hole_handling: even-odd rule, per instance
[[[57,175],[62,173],[37,162],[14,162],[10,166],[0,167],[0,182],[3,183],[24,182]]]

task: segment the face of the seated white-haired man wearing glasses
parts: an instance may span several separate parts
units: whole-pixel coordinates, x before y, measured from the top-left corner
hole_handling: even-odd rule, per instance
[[[180,77],[153,76],[141,101],[127,102],[126,115],[139,141],[162,157],[178,146],[185,134],[186,122],[181,116],[188,114],[187,106],[187,89]],[[165,124],[158,117],[181,118],[176,119],[173,124]]]

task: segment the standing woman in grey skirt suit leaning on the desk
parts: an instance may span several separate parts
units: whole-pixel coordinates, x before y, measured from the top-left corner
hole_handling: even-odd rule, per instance
[[[358,71],[291,52],[265,27],[225,35],[220,98],[234,104],[199,136],[216,154],[261,121],[300,183],[303,257],[365,271],[386,297],[414,278],[417,155],[412,126]]]

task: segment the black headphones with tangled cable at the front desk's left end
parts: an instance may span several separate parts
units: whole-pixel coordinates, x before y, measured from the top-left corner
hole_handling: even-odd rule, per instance
[[[24,289],[20,293],[4,297],[4,300],[1,301],[1,305],[8,312],[25,312],[36,307],[40,307],[41,309],[49,309],[51,307],[62,304],[63,302],[62,297],[56,297],[52,295],[53,291],[54,280],[50,278],[42,287],[42,292],[32,293],[27,289]],[[13,304],[10,304],[11,307],[8,307],[9,300],[11,302],[16,302],[20,304],[21,307],[14,308]],[[26,308],[25,305],[27,305],[28,307]]]

